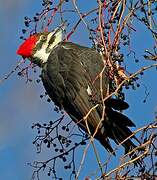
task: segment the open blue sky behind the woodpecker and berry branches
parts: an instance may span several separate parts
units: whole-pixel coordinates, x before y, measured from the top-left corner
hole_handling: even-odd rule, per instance
[[[89,6],[89,4],[87,5]],[[33,16],[40,8],[39,1],[0,1],[0,77],[10,72],[20,60],[15,52],[21,43],[19,36],[23,28],[24,16]],[[81,8],[83,9],[84,7]],[[79,27],[78,32],[71,40],[89,45],[87,34],[81,28],[83,28],[83,25]],[[144,48],[153,46],[149,34],[144,34],[144,31],[143,27],[139,26],[133,37],[133,47],[139,49],[137,53],[138,58],[140,58]],[[128,62],[129,60],[131,61],[132,57],[128,59]],[[143,63],[142,61],[143,59],[141,59],[143,65],[149,63]],[[130,69],[135,71],[140,67],[140,63],[139,65],[134,63],[131,64]],[[137,127],[147,124],[154,119],[157,102],[155,83],[157,77],[155,73],[154,69],[149,70],[140,80],[141,87],[139,89],[126,92],[126,99],[130,104],[126,114],[134,120]],[[142,102],[145,97],[145,89],[142,84],[147,86],[150,93],[145,104]],[[36,135],[31,129],[32,123],[49,121],[56,117],[52,106],[39,98],[42,92],[43,87],[41,85],[36,83],[26,84],[25,79],[18,77],[17,73],[0,85],[0,179],[2,180],[30,179],[32,169],[27,163],[32,162],[36,158],[40,159],[40,157],[44,158],[47,156],[46,153],[42,154],[42,156],[37,155],[32,145],[33,137]],[[103,158],[106,153],[104,150],[101,150],[102,147],[99,145],[98,148],[101,151],[100,156]],[[84,168],[82,178],[88,175],[85,173],[87,169],[89,172],[93,170],[94,162],[93,164],[90,163],[93,155],[92,150],[87,154],[86,165],[88,168]],[[43,177],[42,179],[47,178]]]

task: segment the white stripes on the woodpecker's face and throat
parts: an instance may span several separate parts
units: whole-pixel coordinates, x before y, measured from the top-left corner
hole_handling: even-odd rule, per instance
[[[51,53],[51,51],[47,52],[46,49],[49,46],[49,41],[51,39],[51,37],[53,36],[54,32],[51,32],[48,34],[47,36],[47,40],[46,42],[43,43],[42,48],[37,50],[34,54],[35,58],[39,58],[42,60],[43,63],[45,63],[48,60],[48,57]],[[49,49],[53,49],[58,43],[60,43],[62,41],[62,31],[59,31],[55,34],[55,40],[52,43],[52,45],[49,46]],[[40,43],[40,41],[42,40],[42,36],[40,36],[39,40],[37,41],[37,44]]]

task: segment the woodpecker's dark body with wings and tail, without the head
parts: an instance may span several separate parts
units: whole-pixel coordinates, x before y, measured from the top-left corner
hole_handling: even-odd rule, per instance
[[[120,143],[131,134],[128,126],[134,126],[129,118],[112,109],[126,109],[127,103],[113,99],[106,101],[105,116],[101,123],[101,105],[92,110],[86,120],[83,119],[95,102],[101,102],[99,74],[104,66],[101,55],[94,49],[61,43],[51,52],[43,67],[42,81],[55,105],[64,108],[83,130],[93,134],[99,125],[95,138],[113,152],[108,137]],[[102,86],[105,97],[109,86],[106,68],[103,71]],[[135,147],[130,139],[123,146],[126,152]]]

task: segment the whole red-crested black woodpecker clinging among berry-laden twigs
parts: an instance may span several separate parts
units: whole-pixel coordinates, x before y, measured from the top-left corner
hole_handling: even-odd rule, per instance
[[[62,29],[58,28],[31,35],[17,54],[41,67],[43,85],[54,104],[64,109],[86,133],[92,135],[96,131],[95,138],[109,152],[113,153],[109,139],[119,144],[132,134],[128,127],[135,126],[134,123],[118,112],[127,109],[128,104],[113,98],[105,101],[104,107],[101,103],[101,89],[105,98],[110,80],[103,57],[95,49],[62,41]],[[96,103],[99,106],[91,110]],[[122,145],[126,153],[136,147],[130,139]]]

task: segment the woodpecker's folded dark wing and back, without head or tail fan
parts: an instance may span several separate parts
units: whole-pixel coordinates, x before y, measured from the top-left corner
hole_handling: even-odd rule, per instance
[[[94,102],[99,100],[100,78],[96,77],[103,67],[101,56],[93,49],[64,43],[51,52],[42,70],[42,81],[55,105],[64,108],[83,130],[89,133],[88,126],[93,134],[99,125],[96,138],[103,139],[104,146],[112,151],[107,136],[104,136],[105,130],[97,109],[89,114],[86,120],[88,125],[83,119],[95,105]],[[103,78],[105,94],[108,83],[106,76]]]

